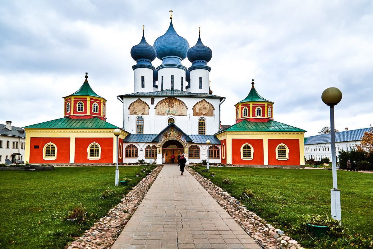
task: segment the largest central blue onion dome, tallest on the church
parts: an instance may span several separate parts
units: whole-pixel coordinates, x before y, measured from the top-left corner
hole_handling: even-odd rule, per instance
[[[178,35],[173,28],[172,20],[166,33],[158,37],[157,40],[154,41],[153,46],[160,60],[166,56],[178,56],[181,60],[184,60],[186,58],[186,52],[188,52],[189,49],[188,41]]]

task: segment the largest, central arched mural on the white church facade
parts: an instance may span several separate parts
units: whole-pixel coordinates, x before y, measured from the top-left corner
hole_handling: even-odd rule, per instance
[[[169,97],[161,100],[156,105],[156,115],[175,115],[175,116],[186,116],[188,108],[179,99]]]

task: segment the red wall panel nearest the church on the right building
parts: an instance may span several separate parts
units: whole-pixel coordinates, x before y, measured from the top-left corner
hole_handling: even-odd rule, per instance
[[[254,158],[252,160],[241,159],[241,147],[245,143],[253,146]],[[263,165],[263,139],[232,139],[232,164]]]

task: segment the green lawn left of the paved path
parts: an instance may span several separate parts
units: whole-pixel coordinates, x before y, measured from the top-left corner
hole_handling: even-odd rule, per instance
[[[56,167],[53,171],[0,171],[0,248],[63,248],[104,217],[142,177],[144,166],[120,166],[115,186],[114,166]],[[107,194],[110,190],[110,194]],[[104,196],[104,198],[103,198]],[[86,221],[66,221],[82,208]]]

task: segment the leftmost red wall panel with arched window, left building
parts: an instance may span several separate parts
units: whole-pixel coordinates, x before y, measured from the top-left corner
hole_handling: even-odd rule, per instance
[[[55,160],[43,159],[43,148],[52,142],[57,147],[57,158]],[[39,149],[34,149],[38,145]],[[30,138],[30,164],[33,163],[69,163],[70,162],[70,138],[69,137],[31,137]]]

